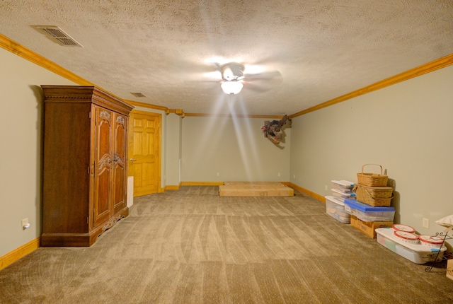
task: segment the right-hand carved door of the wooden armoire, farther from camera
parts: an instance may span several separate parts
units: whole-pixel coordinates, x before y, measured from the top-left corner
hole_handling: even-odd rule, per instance
[[[126,206],[127,116],[115,113],[113,122],[113,214]]]

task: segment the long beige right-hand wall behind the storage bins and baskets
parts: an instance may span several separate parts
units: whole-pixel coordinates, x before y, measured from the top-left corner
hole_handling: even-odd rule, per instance
[[[294,118],[291,181],[328,195],[331,180],[356,182],[363,164],[383,165],[396,182],[396,221],[440,232],[434,222],[453,214],[452,79],[449,66]]]

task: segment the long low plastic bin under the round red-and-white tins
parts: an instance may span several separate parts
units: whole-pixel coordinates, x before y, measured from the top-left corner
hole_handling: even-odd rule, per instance
[[[394,228],[377,228],[377,242],[415,264],[440,262],[444,256],[445,250],[447,250],[447,247],[445,246],[442,246],[442,248],[439,249],[421,245],[420,243],[410,244],[402,242],[400,238],[394,235],[394,231]]]

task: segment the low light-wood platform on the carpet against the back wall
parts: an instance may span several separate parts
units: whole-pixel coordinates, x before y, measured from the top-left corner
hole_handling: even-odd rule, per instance
[[[221,197],[292,197],[294,190],[280,182],[224,182]]]

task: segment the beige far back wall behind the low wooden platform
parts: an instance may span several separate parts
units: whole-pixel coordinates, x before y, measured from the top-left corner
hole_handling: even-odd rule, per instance
[[[263,124],[262,118],[185,117],[183,182],[288,181],[291,129],[279,148],[264,138]]]

